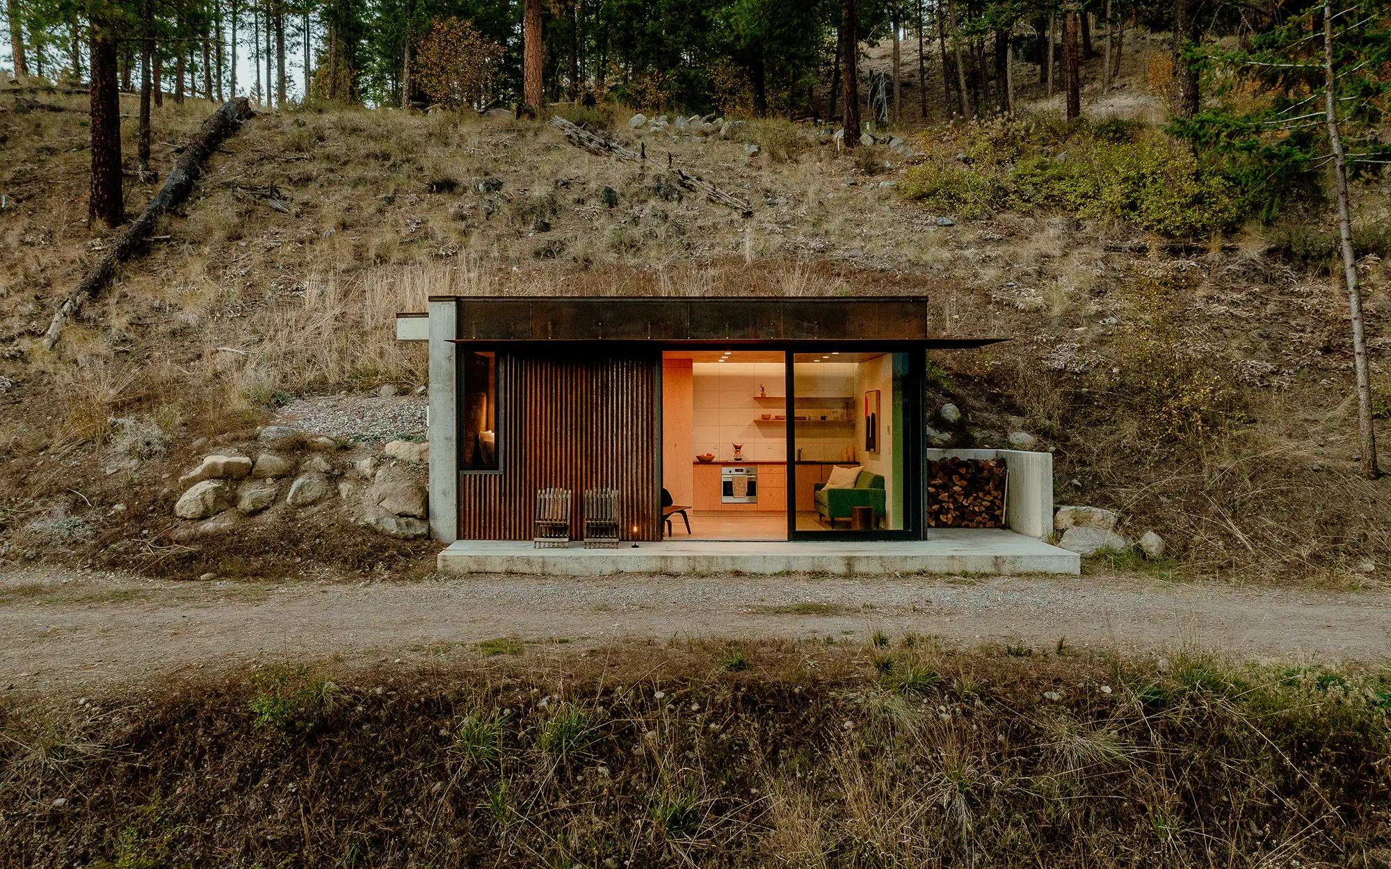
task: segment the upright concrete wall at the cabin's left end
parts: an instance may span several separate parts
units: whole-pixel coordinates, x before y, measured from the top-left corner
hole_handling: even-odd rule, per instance
[[[430,535],[459,538],[459,371],[455,364],[458,309],[453,299],[430,302]]]

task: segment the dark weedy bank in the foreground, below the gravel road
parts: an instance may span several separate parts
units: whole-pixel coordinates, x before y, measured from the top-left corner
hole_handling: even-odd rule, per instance
[[[113,691],[63,727],[57,701],[11,705],[0,865],[1187,869],[1391,847],[1385,673],[740,648],[737,672],[721,642],[253,669]],[[942,679],[887,680],[906,665]]]

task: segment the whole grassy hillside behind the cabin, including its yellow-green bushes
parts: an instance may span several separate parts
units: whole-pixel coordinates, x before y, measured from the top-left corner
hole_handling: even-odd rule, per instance
[[[198,438],[245,432],[292,395],[423,382],[391,318],[433,292],[912,293],[933,299],[942,334],[1011,338],[938,355],[933,399],[967,412],[961,442],[1039,437],[1059,503],[1160,531],[1181,574],[1374,583],[1391,569],[1387,484],[1358,473],[1327,207],[1244,218],[1156,127],[1138,57],[1125,70],[1085,124],[1039,100],[1011,121],[897,131],[908,159],[786,121],[730,140],[633,131],[622,107],[562,111],[645,164],[510,117],[264,114],[54,352],[36,338],[103,234],[85,225],[85,97],[45,95],[67,111],[0,115],[17,203],[0,245],[18,253],[0,261],[3,558],[159,539],[166,476]],[[167,104],[156,139],[210,110]],[[163,172],[174,154],[156,152]],[[669,164],[747,197],[753,218],[682,190]],[[1124,178],[1124,196],[1103,178]],[[134,213],[152,189],[128,185]],[[1383,405],[1388,202],[1381,182],[1358,185]],[[113,419],[156,434],[132,445]],[[138,467],[102,473],[132,455]],[[56,533],[64,521],[85,530]]]

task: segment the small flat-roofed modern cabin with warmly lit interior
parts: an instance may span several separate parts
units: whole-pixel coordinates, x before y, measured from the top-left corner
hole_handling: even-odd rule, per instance
[[[435,296],[398,317],[430,342],[430,527],[530,541],[537,494],[619,492],[630,542],[921,541],[926,352],[921,298]],[[1052,456],[1008,466],[1004,527],[1052,530]],[[668,521],[670,520],[670,521]]]

